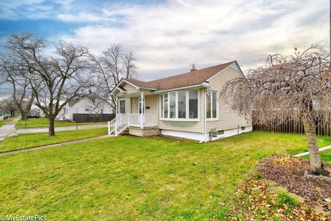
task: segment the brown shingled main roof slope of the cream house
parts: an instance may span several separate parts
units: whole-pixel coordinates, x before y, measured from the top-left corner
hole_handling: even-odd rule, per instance
[[[130,83],[140,86],[143,88],[156,88],[157,90],[168,90],[172,88],[181,88],[184,86],[192,86],[197,84],[202,84],[208,78],[219,73],[224,68],[228,67],[230,64],[237,61],[230,61],[225,64],[219,64],[217,66],[212,66],[209,68],[203,68],[200,70],[190,71],[188,73],[183,73],[181,75],[174,75],[170,77],[164,77],[154,81],[138,81],[134,79],[126,79]]]

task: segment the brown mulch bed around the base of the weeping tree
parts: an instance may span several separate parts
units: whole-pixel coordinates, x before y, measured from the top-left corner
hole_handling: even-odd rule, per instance
[[[330,164],[324,163],[323,166],[331,174]],[[258,171],[266,179],[301,196],[308,204],[331,211],[331,203],[324,200],[331,199],[331,178],[311,175],[309,160],[287,156],[268,157],[259,163]]]

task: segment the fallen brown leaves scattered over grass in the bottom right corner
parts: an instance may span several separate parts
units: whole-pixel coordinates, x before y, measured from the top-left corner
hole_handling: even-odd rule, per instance
[[[301,204],[287,193],[275,193],[257,175],[246,180],[234,195],[234,206],[227,220],[331,220]]]

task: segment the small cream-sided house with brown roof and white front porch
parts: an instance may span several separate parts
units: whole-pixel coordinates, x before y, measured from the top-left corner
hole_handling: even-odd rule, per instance
[[[112,90],[117,117],[109,133],[170,135],[201,142],[252,131],[252,122],[219,97],[226,81],[244,77],[237,61],[154,81],[121,79]]]

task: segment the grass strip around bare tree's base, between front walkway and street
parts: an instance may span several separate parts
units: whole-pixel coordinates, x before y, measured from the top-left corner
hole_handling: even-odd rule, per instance
[[[48,133],[22,133],[19,137],[8,137],[0,142],[0,153],[20,150],[34,146],[57,144],[70,140],[97,137],[108,134],[108,128],[81,129],[77,131],[58,131],[55,136]]]

